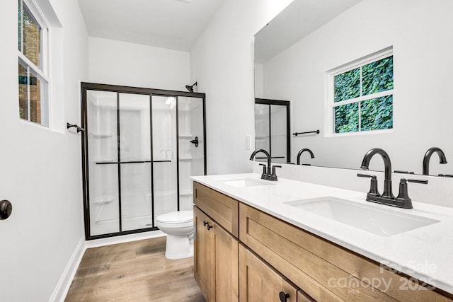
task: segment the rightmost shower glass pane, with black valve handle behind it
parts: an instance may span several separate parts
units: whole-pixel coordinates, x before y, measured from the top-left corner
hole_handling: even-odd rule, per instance
[[[178,97],[179,207],[193,209],[190,176],[205,175],[205,128],[202,98]]]

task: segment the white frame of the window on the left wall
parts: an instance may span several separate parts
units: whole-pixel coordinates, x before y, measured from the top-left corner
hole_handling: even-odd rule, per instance
[[[41,122],[30,120],[30,85],[27,85],[27,119],[21,118],[19,114],[19,120],[50,128],[50,26],[44,13],[42,13],[34,0],[18,0],[18,3],[19,2],[21,3],[21,24],[18,26],[21,28],[17,28],[16,33],[19,33],[19,30],[21,31],[21,42],[20,47],[18,47],[20,48],[18,49],[18,64],[21,64],[27,70],[27,79],[30,79],[31,74],[35,74],[40,80],[40,83],[43,83],[40,87],[42,98],[40,100]],[[23,54],[23,11],[26,11],[29,18],[40,27],[40,66],[36,66],[35,63]],[[17,41],[19,41],[19,39],[17,39]],[[20,110],[18,110],[18,112],[20,112]]]

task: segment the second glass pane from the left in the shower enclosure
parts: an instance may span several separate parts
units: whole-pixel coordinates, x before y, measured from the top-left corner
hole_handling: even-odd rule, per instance
[[[154,226],[149,103],[149,95],[118,94],[121,231]]]

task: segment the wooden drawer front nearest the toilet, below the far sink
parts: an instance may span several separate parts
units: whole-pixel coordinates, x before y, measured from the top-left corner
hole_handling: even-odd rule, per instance
[[[239,238],[239,202],[236,199],[193,182],[193,202],[226,231]]]

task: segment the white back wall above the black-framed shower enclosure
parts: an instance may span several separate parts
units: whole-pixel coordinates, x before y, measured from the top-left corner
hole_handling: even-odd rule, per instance
[[[188,52],[89,37],[92,83],[185,91]]]

